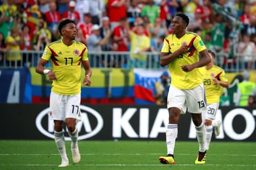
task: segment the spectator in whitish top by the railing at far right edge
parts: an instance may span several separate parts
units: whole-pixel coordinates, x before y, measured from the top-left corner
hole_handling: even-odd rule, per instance
[[[237,46],[237,53],[242,54],[239,57],[240,68],[252,68],[255,62],[256,45],[250,40],[249,34],[242,35],[242,41]]]

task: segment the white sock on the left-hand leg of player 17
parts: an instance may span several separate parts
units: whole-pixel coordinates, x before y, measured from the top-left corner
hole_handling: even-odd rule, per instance
[[[55,138],[55,143],[58,148],[58,152],[60,153],[60,156],[62,159],[68,159],[66,156],[66,146],[65,146],[65,138],[64,138],[64,132],[56,132],[54,131],[54,138]]]

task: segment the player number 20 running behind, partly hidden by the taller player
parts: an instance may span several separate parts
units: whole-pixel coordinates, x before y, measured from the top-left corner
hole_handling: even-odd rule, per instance
[[[204,87],[206,89],[206,100],[208,103],[208,110],[203,110],[203,121],[206,125],[206,150],[209,150],[211,136],[213,134],[213,127],[215,135],[219,135],[219,127],[221,121],[215,121],[216,112],[219,109],[219,96],[221,96],[222,87],[229,87],[224,69],[214,65],[215,54],[208,50],[211,56],[211,62],[199,68],[203,75]]]

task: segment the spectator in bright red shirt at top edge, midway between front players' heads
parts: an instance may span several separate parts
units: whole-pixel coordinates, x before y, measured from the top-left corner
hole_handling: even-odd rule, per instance
[[[122,18],[126,17],[126,0],[108,0],[106,4],[106,12],[109,17],[111,24],[111,30],[119,25],[119,22]]]

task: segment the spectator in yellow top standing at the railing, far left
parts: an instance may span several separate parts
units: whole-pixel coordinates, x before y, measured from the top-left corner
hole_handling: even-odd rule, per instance
[[[20,53],[21,37],[19,36],[19,28],[12,27],[11,34],[6,37],[6,45],[9,50],[6,53],[6,63],[8,66],[22,66],[22,58]]]

